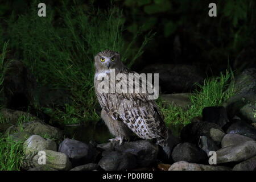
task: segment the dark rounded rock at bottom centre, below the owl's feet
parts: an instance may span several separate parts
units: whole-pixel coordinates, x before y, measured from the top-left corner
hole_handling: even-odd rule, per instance
[[[102,155],[98,165],[105,171],[121,171],[137,166],[135,155],[128,152],[109,151]]]

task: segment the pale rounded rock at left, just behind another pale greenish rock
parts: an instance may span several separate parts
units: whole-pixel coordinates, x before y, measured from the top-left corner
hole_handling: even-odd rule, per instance
[[[42,150],[56,151],[56,143],[51,139],[44,139],[39,135],[32,135],[23,143],[23,152],[25,155],[37,154]]]

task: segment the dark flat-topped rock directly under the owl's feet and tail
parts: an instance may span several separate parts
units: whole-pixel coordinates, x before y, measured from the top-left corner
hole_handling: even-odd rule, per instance
[[[148,140],[137,140],[118,145],[115,146],[115,150],[135,155],[140,167],[147,167],[155,163],[158,155],[158,146]]]

